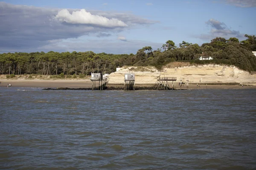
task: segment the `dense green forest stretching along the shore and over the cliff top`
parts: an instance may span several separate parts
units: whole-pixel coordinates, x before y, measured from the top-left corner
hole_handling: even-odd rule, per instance
[[[84,77],[91,72],[111,73],[123,65],[147,66],[160,69],[174,61],[197,64],[216,63],[236,65],[246,71],[256,71],[256,37],[245,34],[246,40],[216,37],[201,46],[181,42],[179,47],[172,40],[166,41],[161,48],[152,51],[150,46],[143,47],[137,54],[96,54],[86,52],[32,52],[0,54],[0,74],[41,74],[74,75]],[[212,60],[199,60],[199,57],[212,57]]]

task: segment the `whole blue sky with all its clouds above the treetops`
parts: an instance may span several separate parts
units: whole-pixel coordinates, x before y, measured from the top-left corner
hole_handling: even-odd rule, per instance
[[[256,0],[4,0],[0,53],[136,54],[172,40],[256,35]]]

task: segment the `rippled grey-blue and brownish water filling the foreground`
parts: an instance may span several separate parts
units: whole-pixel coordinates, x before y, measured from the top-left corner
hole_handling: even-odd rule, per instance
[[[0,88],[0,169],[255,169],[255,96]]]

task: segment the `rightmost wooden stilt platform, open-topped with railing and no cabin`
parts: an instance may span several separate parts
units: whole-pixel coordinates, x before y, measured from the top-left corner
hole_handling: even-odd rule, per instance
[[[175,90],[175,82],[177,77],[157,77],[157,82],[154,85],[156,90]],[[168,81],[172,81],[172,88],[170,88]]]

